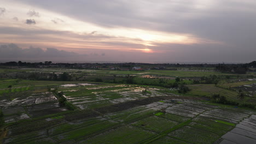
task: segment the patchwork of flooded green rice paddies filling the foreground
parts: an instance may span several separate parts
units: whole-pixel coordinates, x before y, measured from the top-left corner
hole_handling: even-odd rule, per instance
[[[189,94],[194,97],[187,97],[140,85],[26,83],[38,91],[47,85],[55,89],[39,93],[28,89],[28,95],[13,100],[1,96],[2,143],[223,144],[232,135],[256,142],[255,111],[214,106],[201,99],[207,95],[196,97],[196,91],[235,95],[214,85],[191,85]],[[150,93],[142,92],[146,88]],[[59,92],[77,109],[60,105]]]

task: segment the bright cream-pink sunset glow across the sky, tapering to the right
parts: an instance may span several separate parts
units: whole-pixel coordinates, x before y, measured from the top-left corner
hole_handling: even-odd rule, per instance
[[[14,3],[11,0],[2,1],[0,5],[7,8],[8,11],[8,13],[1,17],[0,26],[21,29],[21,32],[34,31],[33,38],[31,39],[27,39],[27,37],[24,37],[24,34],[19,33],[2,35],[3,38],[0,43],[4,41],[4,43],[59,48],[86,47],[87,49],[109,50],[121,48],[122,51],[130,51],[132,49],[133,51],[153,53],[156,51],[153,51],[150,47],[156,47],[160,44],[199,44],[205,41],[204,39],[196,38],[192,34],[185,33],[150,31],[128,27],[106,28],[37,7],[33,7],[33,9],[38,11],[40,17],[28,17],[27,11],[31,9],[31,5],[19,2]],[[13,16],[19,17],[19,20],[14,21],[10,19]],[[34,25],[27,25],[26,19],[33,19],[36,23]],[[207,43],[212,43],[212,41],[207,41]],[[127,44],[127,46],[123,44]]]

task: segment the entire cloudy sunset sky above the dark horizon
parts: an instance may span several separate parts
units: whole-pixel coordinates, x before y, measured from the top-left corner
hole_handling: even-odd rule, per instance
[[[248,63],[255,0],[1,0],[0,62]]]

